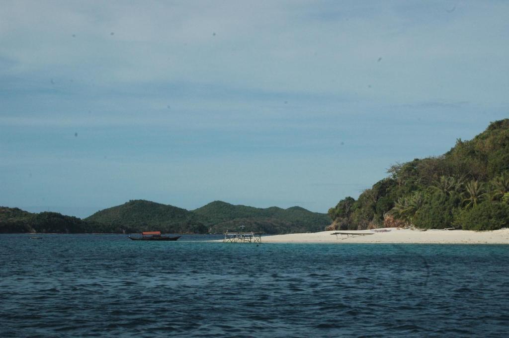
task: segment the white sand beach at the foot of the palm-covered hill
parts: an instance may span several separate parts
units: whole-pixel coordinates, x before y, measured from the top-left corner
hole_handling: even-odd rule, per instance
[[[377,229],[380,230],[380,229]],[[386,228],[372,230],[322,231],[263,236],[263,243],[422,243],[422,244],[509,244],[509,229],[494,231],[410,230]],[[333,235],[335,232],[349,233]],[[365,234],[365,235],[363,235]]]

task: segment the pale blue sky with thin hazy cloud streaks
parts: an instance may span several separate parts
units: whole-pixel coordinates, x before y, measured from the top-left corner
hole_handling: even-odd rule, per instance
[[[0,1],[0,205],[327,212],[509,117],[505,1]]]

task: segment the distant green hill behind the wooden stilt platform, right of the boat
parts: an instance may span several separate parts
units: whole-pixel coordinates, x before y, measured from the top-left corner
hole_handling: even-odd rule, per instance
[[[312,212],[298,206],[288,209],[275,206],[255,208],[214,201],[192,212],[201,217],[212,233],[241,229],[271,234],[316,232],[322,231],[331,222],[327,214]]]

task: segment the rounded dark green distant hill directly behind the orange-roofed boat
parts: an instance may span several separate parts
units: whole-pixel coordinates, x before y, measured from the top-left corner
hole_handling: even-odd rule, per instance
[[[122,227],[125,232],[159,230],[165,233],[207,233],[194,213],[145,200],[131,200],[122,205],[97,211],[84,219],[88,222]]]

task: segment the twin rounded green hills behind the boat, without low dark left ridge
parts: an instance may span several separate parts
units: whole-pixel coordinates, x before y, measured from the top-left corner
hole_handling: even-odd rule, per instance
[[[144,200],[131,200],[98,211],[84,220],[123,227],[126,232],[161,230],[168,233],[222,233],[241,229],[266,233],[306,232],[323,230],[331,222],[327,214],[300,207],[262,209],[215,201],[188,211]]]

